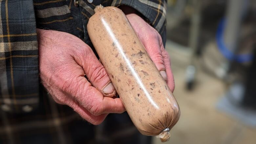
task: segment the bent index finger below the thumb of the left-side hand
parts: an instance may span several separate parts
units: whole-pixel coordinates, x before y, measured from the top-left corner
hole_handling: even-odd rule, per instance
[[[120,98],[104,97],[85,77],[71,76],[70,79],[71,81],[65,82],[63,91],[70,94],[91,114],[101,115],[104,113],[123,113],[125,111]]]

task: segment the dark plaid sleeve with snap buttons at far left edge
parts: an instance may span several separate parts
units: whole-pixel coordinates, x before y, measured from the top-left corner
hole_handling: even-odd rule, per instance
[[[30,112],[39,102],[33,0],[0,1],[0,111]]]

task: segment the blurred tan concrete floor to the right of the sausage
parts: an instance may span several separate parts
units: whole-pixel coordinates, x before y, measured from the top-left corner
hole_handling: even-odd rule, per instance
[[[170,53],[175,78],[174,95],[181,109],[180,120],[166,144],[256,144],[256,128],[246,127],[216,110],[216,102],[225,92],[224,83],[199,69],[195,89],[186,91],[189,53],[168,42],[166,50]],[[154,144],[160,143],[154,138]]]

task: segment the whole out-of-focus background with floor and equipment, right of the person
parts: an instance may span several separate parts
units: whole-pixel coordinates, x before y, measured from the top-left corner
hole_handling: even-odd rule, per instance
[[[166,144],[255,144],[256,1],[168,0],[166,18],[181,108]]]

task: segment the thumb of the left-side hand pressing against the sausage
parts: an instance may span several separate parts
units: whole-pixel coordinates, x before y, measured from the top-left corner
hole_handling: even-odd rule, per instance
[[[77,63],[83,68],[86,77],[91,84],[98,89],[104,96],[113,97],[116,94],[108,73],[104,66],[99,62],[92,49],[84,44],[74,56]]]

